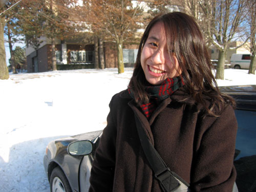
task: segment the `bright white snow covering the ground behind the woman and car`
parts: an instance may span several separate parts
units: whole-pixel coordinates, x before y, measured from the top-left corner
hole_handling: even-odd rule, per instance
[[[0,191],[49,192],[43,157],[56,138],[101,130],[111,97],[131,68],[10,74],[0,80]],[[256,84],[248,70],[225,70],[219,86]]]

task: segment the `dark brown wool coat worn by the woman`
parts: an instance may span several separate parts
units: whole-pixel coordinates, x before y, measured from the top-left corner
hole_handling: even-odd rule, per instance
[[[127,90],[113,96],[108,125],[96,150],[89,191],[161,191],[147,162],[134,113],[167,166],[192,191],[232,191],[237,120],[231,106],[220,117],[202,118],[199,104],[182,90],[158,106],[148,121]]]

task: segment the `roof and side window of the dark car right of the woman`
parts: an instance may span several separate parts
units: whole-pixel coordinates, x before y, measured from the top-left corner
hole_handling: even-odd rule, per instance
[[[234,159],[239,192],[256,191],[256,85],[220,87],[237,102],[234,111],[238,120]]]

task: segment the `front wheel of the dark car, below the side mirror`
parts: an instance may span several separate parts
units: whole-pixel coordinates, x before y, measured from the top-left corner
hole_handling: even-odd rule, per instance
[[[52,170],[50,187],[51,192],[72,192],[69,181],[60,167]]]

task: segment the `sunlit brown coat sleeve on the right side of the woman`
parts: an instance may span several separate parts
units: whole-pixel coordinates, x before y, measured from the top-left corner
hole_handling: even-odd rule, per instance
[[[232,191],[236,180],[233,158],[237,127],[231,106],[220,117],[206,117],[202,121],[203,131],[192,167],[194,174],[190,178],[193,191]]]

